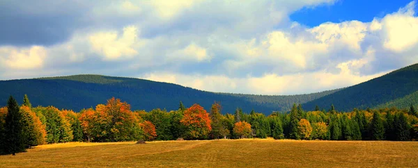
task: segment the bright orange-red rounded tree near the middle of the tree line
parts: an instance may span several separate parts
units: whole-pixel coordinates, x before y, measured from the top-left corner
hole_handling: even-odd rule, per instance
[[[187,108],[180,123],[186,128],[185,138],[187,139],[208,138],[210,131],[212,131],[209,114],[199,104]]]

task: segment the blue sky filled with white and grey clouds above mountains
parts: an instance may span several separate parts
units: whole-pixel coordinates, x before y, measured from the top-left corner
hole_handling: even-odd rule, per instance
[[[403,0],[0,1],[0,79],[102,74],[301,94],[418,62]]]

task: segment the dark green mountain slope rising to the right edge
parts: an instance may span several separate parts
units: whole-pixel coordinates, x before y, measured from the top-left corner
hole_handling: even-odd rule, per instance
[[[353,108],[407,108],[418,104],[418,64],[410,65],[370,81],[346,87],[327,96],[304,103],[302,107],[313,110],[315,106],[336,110]]]

